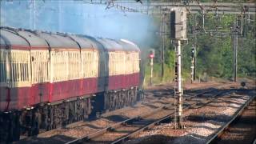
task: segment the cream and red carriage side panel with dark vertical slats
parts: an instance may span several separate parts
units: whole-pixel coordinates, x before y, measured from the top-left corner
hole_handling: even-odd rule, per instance
[[[33,104],[30,98],[30,50],[10,50],[8,56],[10,58],[10,95],[7,94],[7,110],[22,109]]]

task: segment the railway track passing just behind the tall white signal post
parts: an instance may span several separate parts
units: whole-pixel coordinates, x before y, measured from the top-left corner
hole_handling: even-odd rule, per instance
[[[202,91],[199,94],[194,94],[192,96],[186,95],[186,100],[191,100],[195,97],[206,97],[204,102],[188,102],[183,107],[183,110],[188,110],[192,106],[202,106],[202,103],[205,105],[212,101],[213,98],[218,95],[230,93],[234,90],[217,90],[210,89]],[[130,138],[133,138],[135,135],[139,134],[143,130],[148,130],[155,125],[158,125],[162,122],[170,122],[174,117],[174,109],[166,105],[154,110],[148,114],[142,114],[134,118],[129,118],[125,121],[118,122],[113,126],[108,126],[102,130],[98,130],[92,134],[86,135],[82,138],[74,139],[73,141],[66,142],[66,144],[71,143],[122,143]]]

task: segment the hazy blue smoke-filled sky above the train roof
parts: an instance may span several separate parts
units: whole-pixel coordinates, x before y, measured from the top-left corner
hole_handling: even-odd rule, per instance
[[[154,19],[147,14],[71,0],[2,0],[1,26],[86,34],[100,38],[148,42]],[[134,5],[141,5],[139,2]]]

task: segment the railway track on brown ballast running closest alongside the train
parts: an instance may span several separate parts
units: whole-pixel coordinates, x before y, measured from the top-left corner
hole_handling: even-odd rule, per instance
[[[184,94],[184,100],[189,101],[192,98],[199,98],[201,96],[205,98],[209,98],[214,93],[218,93],[219,89],[229,89],[230,84],[226,84],[225,86],[216,86],[216,88],[207,88],[204,87],[203,89],[191,89],[186,90]],[[70,124],[62,129],[55,129],[46,131],[42,134],[39,134],[38,136],[24,138],[21,141],[15,142],[15,143],[68,143],[68,142],[74,142],[78,138],[77,142],[90,142],[93,143],[95,138],[100,138],[101,135],[104,135],[106,133],[109,133],[112,131],[113,134],[118,134],[116,130],[122,129],[122,126],[129,126],[130,124],[139,123],[140,127],[142,127],[142,124],[150,124],[150,122],[154,122],[155,120],[160,119],[160,117],[164,117],[165,115],[170,114],[171,107],[174,105],[170,103],[174,103],[174,98],[171,97],[171,89],[161,89],[161,90],[151,90],[147,92],[146,94],[146,102],[139,102],[141,104],[136,105],[135,107],[126,107],[121,110],[115,110],[117,113],[107,112],[107,114],[104,114],[103,117],[97,118],[93,120],[92,122],[75,122],[73,124]],[[201,98],[202,99],[202,98]],[[194,101],[194,100],[193,100]],[[196,102],[196,101],[194,101]],[[189,104],[184,103],[184,106],[189,106]],[[145,107],[144,109],[141,109],[142,107]],[[150,107],[150,110],[148,110]],[[154,110],[156,109],[156,110]],[[135,110],[135,111],[134,111]],[[137,111],[137,112],[136,112]],[[146,112],[145,112],[146,111]],[[148,111],[151,111],[150,113],[147,113]],[[174,111],[174,110],[173,110]],[[126,113],[128,112],[128,113]],[[135,112],[135,113],[134,113]],[[124,114],[125,113],[125,114]],[[152,114],[155,113],[155,118]],[[156,114],[162,114],[156,116]],[[133,114],[133,115],[131,115]],[[111,119],[112,116],[124,116],[125,119]],[[138,115],[138,116],[135,116]],[[133,117],[135,116],[135,117]],[[162,118],[161,117],[161,118]],[[108,119],[110,118],[110,119]],[[144,121],[143,119],[149,119],[150,121]],[[106,122],[106,124],[98,123],[110,120],[109,122]],[[167,118],[168,119],[168,118]],[[114,120],[114,121],[113,121]],[[170,119],[169,119],[170,121]],[[162,122],[165,122],[162,121]],[[156,122],[161,123],[161,122]],[[122,126],[120,126],[122,125]],[[154,126],[154,125],[153,125]],[[116,128],[117,127],[117,128]],[[88,129],[89,128],[89,129]],[[134,131],[138,129],[137,127],[134,127],[134,129],[130,126],[130,131]],[[125,131],[127,132],[125,134]],[[111,138],[122,138],[123,136],[128,134],[129,130],[122,130],[121,136],[111,136]],[[88,141],[89,140],[89,141]],[[114,142],[115,139],[113,139],[111,142]],[[102,141],[103,142],[103,141]],[[106,142],[103,142],[106,143]]]

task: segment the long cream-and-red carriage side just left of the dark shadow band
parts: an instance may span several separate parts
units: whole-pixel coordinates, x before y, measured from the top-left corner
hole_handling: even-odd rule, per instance
[[[98,51],[51,51],[50,102],[98,92]]]

